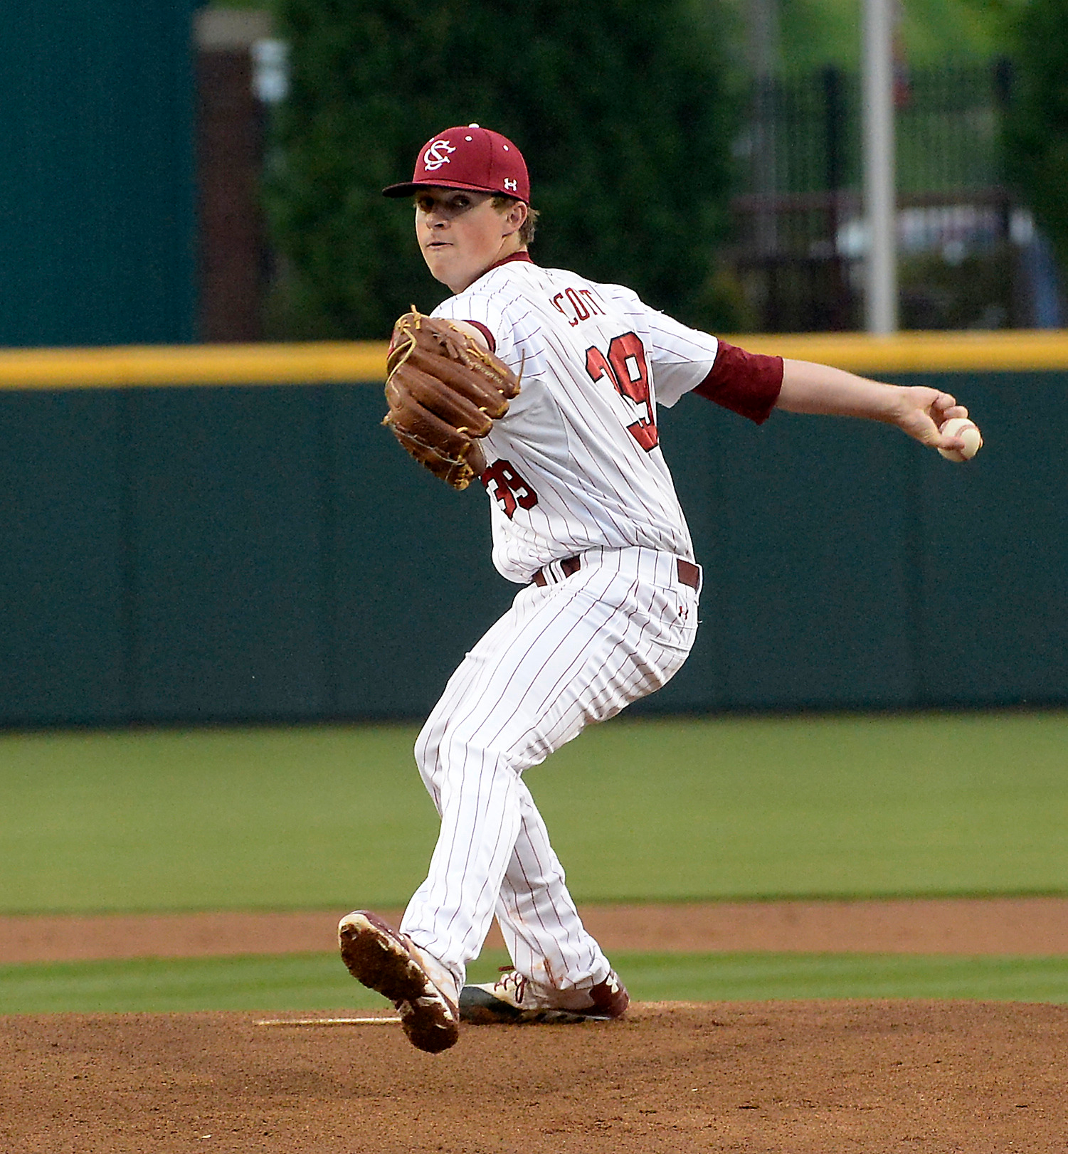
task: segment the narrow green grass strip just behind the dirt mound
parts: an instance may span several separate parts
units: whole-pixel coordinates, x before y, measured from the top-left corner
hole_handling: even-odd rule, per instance
[[[479,959],[488,981],[503,956]],[[635,1001],[978,998],[1068,1002],[1068,958],[641,954],[613,958]],[[387,1003],[336,954],[0,966],[0,1013],[365,1010]]]

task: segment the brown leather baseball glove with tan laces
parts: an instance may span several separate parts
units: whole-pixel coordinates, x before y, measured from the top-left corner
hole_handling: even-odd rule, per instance
[[[486,467],[476,439],[508,412],[518,377],[450,321],[414,306],[394,325],[386,372],[382,424],[420,465],[465,489]]]

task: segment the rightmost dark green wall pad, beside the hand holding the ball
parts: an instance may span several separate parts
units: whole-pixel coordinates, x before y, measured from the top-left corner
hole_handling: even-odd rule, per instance
[[[1068,381],[1052,373],[925,380],[968,398],[986,444],[966,469],[920,460],[916,696],[1066,702]]]

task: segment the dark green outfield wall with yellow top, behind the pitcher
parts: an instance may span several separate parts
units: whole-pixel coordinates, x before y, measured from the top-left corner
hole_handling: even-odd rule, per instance
[[[638,709],[1068,703],[1068,335],[737,339],[950,390],[986,447],[662,410],[703,628]],[[515,586],[379,427],[383,355],[0,353],[0,724],[425,713]]]

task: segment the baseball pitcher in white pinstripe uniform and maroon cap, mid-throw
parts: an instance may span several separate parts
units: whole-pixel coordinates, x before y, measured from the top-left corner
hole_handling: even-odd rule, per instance
[[[441,815],[426,881],[398,929],[367,911],[339,926],[352,975],[435,1052],[462,1020],[612,1019],[627,1007],[523,773],[659,689],[693,645],[702,572],[657,406],[696,394],[757,424],[775,409],[864,417],[947,449],[962,442],[940,426],[966,410],[935,389],[750,354],[629,288],[540,268],[528,252],[536,213],[523,157],[478,125],[433,137],[411,181],[384,194],[414,200],[420,252],[454,294],[432,317],[398,322],[387,422],[457,488],[477,477],[494,565],[522,586],[416,744]],[[481,383],[457,384],[457,366],[505,383],[471,403]],[[448,415],[457,389],[462,419]],[[494,916],[514,968],[464,986]]]

